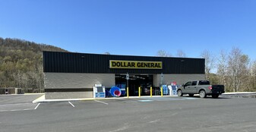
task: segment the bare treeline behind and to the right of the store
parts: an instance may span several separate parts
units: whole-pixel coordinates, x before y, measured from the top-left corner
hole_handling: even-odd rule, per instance
[[[172,56],[160,50],[157,56]],[[186,57],[179,50],[175,57]],[[226,92],[256,92],[256,61],[233,47],[231,51],[210,52],[204,50],[200,58],[205,58],[205,79],[212,84],[223,84]]]

